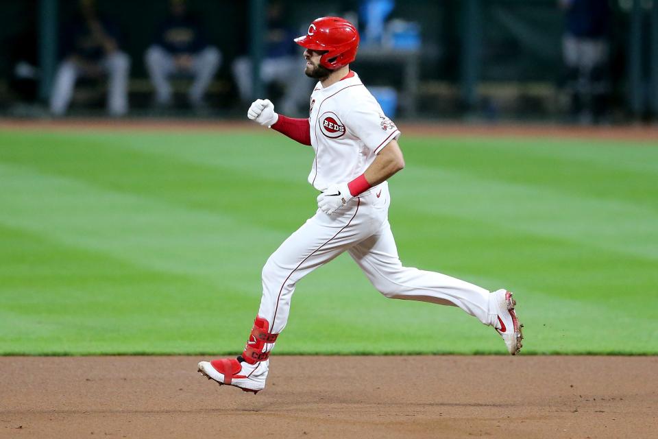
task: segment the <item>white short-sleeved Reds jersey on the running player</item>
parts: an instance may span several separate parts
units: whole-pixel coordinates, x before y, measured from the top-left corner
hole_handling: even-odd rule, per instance
[[[308,182],[322,191],[363,174],[378,152],[400,137],[354,71],[310,96],[310,143],[315,150]]]

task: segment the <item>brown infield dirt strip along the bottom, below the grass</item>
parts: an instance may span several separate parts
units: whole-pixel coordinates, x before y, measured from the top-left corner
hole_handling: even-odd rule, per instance
[[[257,395],[202,357],[0,357],[7,438],[655,438],[658,357],[273,357]]]

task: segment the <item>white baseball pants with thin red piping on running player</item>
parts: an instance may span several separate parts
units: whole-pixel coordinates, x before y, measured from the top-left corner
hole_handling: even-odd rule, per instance
[[[286,326],[297,281],[345,251],[386,297],[453,305],[484,324],[494,323],[496,311],[489,310],[486,289],[445,274],[402,266],[388,221],[389,204],[384,182],[334,215],[318,210],[269,257],[263,268],[258,316],[267,319],[271,333],[280,333]],[[268,344],[264,351],[272,347]]]

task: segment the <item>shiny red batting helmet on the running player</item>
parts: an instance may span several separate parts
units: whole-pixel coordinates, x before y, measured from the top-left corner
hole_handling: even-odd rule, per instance
[[[304,36],[295,43],[306,49],[327,51],[320,65],[335,70],[350,64],[356,58],[358,31],[349,21],[337,16],[323,16],[310,23]]]

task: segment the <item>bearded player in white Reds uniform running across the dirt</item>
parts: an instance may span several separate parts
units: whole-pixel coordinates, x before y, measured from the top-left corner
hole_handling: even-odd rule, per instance
[[[388,220],[387,183],[404,168],[400,130],[350,70],[358,40],[356,28],[344,19],[313,21],[306,35],[295,38],[306,49],[306,75],[319,80],[310,97],[310,117],[278,115],[267,99],[256,100],[247,112],[260,125],[313,147],[308,182],[320,194],[315,215],[265,263],[260,309],[242,355],[199,363],[199,372],[220,385],[254,393],[265,388],[269,355],[286,326],[295,284],[345,251],[386,297],[460,307],[495,328],[511,355],[522,347],[522,325],[511,292],[490,293],[400,263]]]

